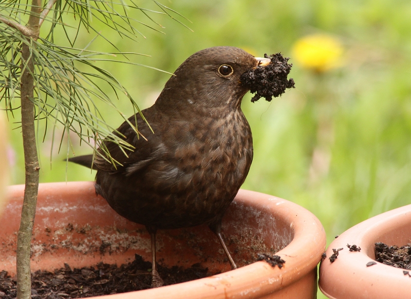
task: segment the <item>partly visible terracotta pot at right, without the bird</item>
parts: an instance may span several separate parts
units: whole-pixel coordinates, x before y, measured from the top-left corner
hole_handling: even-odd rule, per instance
[[[320,289],[329,298],[338,299],[399,299],[411,297],[411,277],[403,270],[378,263],[367,267],[375,259],[376,242],[388,246],[403,246],[411,241],[411,205],[372,217],[345,231],[328,247],[327,258],[320,266]],[[350,252],[349,245],[361,247]],[[339,251],[335,262],[328,257],[332,249]]]

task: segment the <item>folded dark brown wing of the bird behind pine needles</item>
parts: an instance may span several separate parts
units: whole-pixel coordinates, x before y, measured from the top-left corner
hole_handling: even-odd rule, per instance
[[[156,114],[153,107],[143,110],[144,116],[148,119],[153,129],[156,124]],[[128,121],[135,125],[135,116],[128,118]],[[110,153],[111,158],[115,161],[115,165],[110,162],[104,150],[100,147],[98,149],[100,155],[96,155],[94,165],[97,169],[107,171],[110,173],[137,171],[150,163],[156,156],[162,154],[161,142],[158,141],[158,135],[153,134],[152,130],[141,116],[137,115],[137,129],[139,135],[130,127],[127,122],[124,122],[115,132],[116,135],[121,136],[125,142],[134,146],[134,150],[124,151],[117,144],[109,141],[104,142],[106,150]],[[121,133],[121,134],[120,134]],[[105,158],[104,158],[105,157]]]

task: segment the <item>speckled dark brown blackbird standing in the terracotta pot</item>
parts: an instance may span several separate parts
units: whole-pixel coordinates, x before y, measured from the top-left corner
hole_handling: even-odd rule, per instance
[[[249,87],[240,76],[269,58],[234,47],[201,50],[177,68],[155,104],[115,134],[134,150],[105,141],[92,155],[69,161],[97,169],[96,192],[120,215],[151,234],[152,284],[162,285],[156,267],[156,230],[208,224],[232,269],[237,268],[221,235],[221,218],[244,183],[253,160],[251,129],[241,111]],[[105,157],[105,158],[104,158]],[[110,161],[115,161],[111,163]]]

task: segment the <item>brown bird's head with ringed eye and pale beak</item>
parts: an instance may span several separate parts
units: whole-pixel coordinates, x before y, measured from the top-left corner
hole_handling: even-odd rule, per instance
[[[241,85],[241,74],[270,62],[269,58],[256,58],[235,47],[198,51],[177,68],[157,102],[211,109],[239,107],[249,90]]]

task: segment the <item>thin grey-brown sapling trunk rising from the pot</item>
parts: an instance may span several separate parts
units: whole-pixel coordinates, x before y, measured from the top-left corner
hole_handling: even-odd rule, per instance
[[[27,25],[31,35],[26,36],[27,43],[34,47],[33,40],[39,37],[39,21],[41,1],[33,0],[31,14]],[[34,128],[34,95],[32,50],[29,45],[22,46],[22,78],[21,78],[21,111],[24,161],[26,181],[22,218],[17,235],[17,298],[31,299],[30,244],[33,231],[37,192],[39,189],[39,160],[37,155]]]

